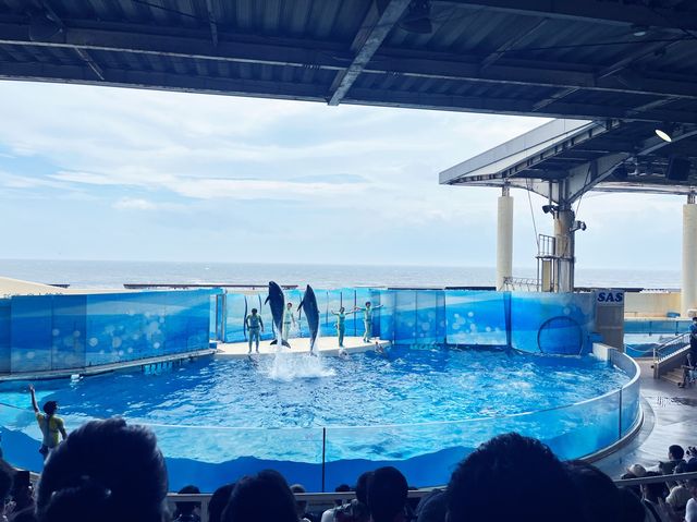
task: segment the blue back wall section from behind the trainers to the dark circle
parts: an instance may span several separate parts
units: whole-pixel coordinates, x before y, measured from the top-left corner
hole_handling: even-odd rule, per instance
[[[524,352],[578,355],[588,353],[598,340],[595,330],[592,293],[491,292],[470,290],[375,290],[348,288],[315,290],[320,311],[320,335],[334,336],[331,311],[364,306],[370,301],[372,332],[398,344],[513,348]],[[302,291],[285,291],[294,306]],[[228,293],[225,296],[225,342],[244,342],[245,314],[260,311],[266,325],[262,339],[272,339],[272,320],[266,293]],[[346,336],[363,336],[360,313],[346,319]],[[307,323],[299,321],[301,337]]]

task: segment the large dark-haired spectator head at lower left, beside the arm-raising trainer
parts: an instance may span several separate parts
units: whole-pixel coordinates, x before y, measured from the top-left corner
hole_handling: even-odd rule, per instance
[[[36,499],[41,522],[160,522],[167,470],[155,435],[122,418],[88,422],[46,461]]]

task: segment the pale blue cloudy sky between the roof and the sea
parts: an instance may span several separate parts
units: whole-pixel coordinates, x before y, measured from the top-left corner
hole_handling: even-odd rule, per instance
[[[438,173],[547,121],[0,82],[0,257],[493,266],[499,190]],[[579,267],[680,269],[683,203],[586,195]]]

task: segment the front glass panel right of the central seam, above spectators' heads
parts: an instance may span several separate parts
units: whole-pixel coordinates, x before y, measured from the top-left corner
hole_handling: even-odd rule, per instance
[[[462,422],[327,428],[327,488],[393,465],[417,487],[445,484],[480,444],[509,432],[535,437],[561,459],[577,459],[617,440],[619,390],[566,408]]]

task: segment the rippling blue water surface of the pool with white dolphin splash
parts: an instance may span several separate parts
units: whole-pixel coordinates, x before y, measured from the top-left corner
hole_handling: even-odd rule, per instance
[[[257,362],[206,360],[150,375],[45,381],[40,400],[57,400],[69,420],[120,415],[142,424],[207,426],[211,444],[204,451],[212,453],[212,439],[218,436],[212,428],[376,426],[490,417],[573,404],[617,389],[626,380],[624,374],[591,356],[394,347],[387,356],[370,352],[346,360],[295,354]],[[22,385],[3,385],[0,401],[26,406],[26,396],[16,392],[17,386]],[[207,437],[205,430],[199,435]],[[421,449],[430,445],[424,440]],[[180,453],[182,448],[171,449]]]

